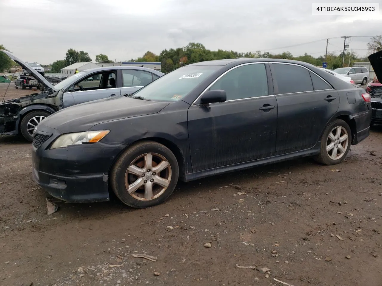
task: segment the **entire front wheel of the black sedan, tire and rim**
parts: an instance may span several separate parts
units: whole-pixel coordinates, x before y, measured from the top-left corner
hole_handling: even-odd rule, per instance
[[[131,145],[118,158],[110,182],[124,204],[139,209],[165,201],[178,177],[178,162],[170,149],[154,141],[142,141]]]

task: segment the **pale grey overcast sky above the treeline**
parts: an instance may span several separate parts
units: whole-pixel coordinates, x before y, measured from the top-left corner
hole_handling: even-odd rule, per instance
[[[210,50],[319,56],[324,40],[298,44],[382,34],[381,15],[312,16],[307,0],[0,0],[0,24],[0,44],[41,64],[63,59],[68,48],[88,52],[93,61],[99,53],[123,61],[189,42]],[[366,55],[367,42],[351,38],[350,49]],[[329,51],[342,48],[343,39],[329,41]]]

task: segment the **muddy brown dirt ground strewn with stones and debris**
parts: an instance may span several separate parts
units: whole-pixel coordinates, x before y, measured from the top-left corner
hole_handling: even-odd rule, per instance
[[[0,137],[0,285],[381,286],[381,140],[373,127],[335,166],[304,158],[179,183],[148,209],[112,197],[48,216],[31,145]]]

